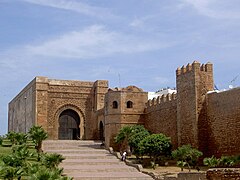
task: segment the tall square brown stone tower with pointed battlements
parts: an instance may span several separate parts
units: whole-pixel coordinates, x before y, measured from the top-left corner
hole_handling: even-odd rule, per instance
[[[214,87],[213,65],[194,61],[176,70],[176,81],[178,145],[191,144],[202,150],[205,146],[199,142],[207,136],[205,98]]]

